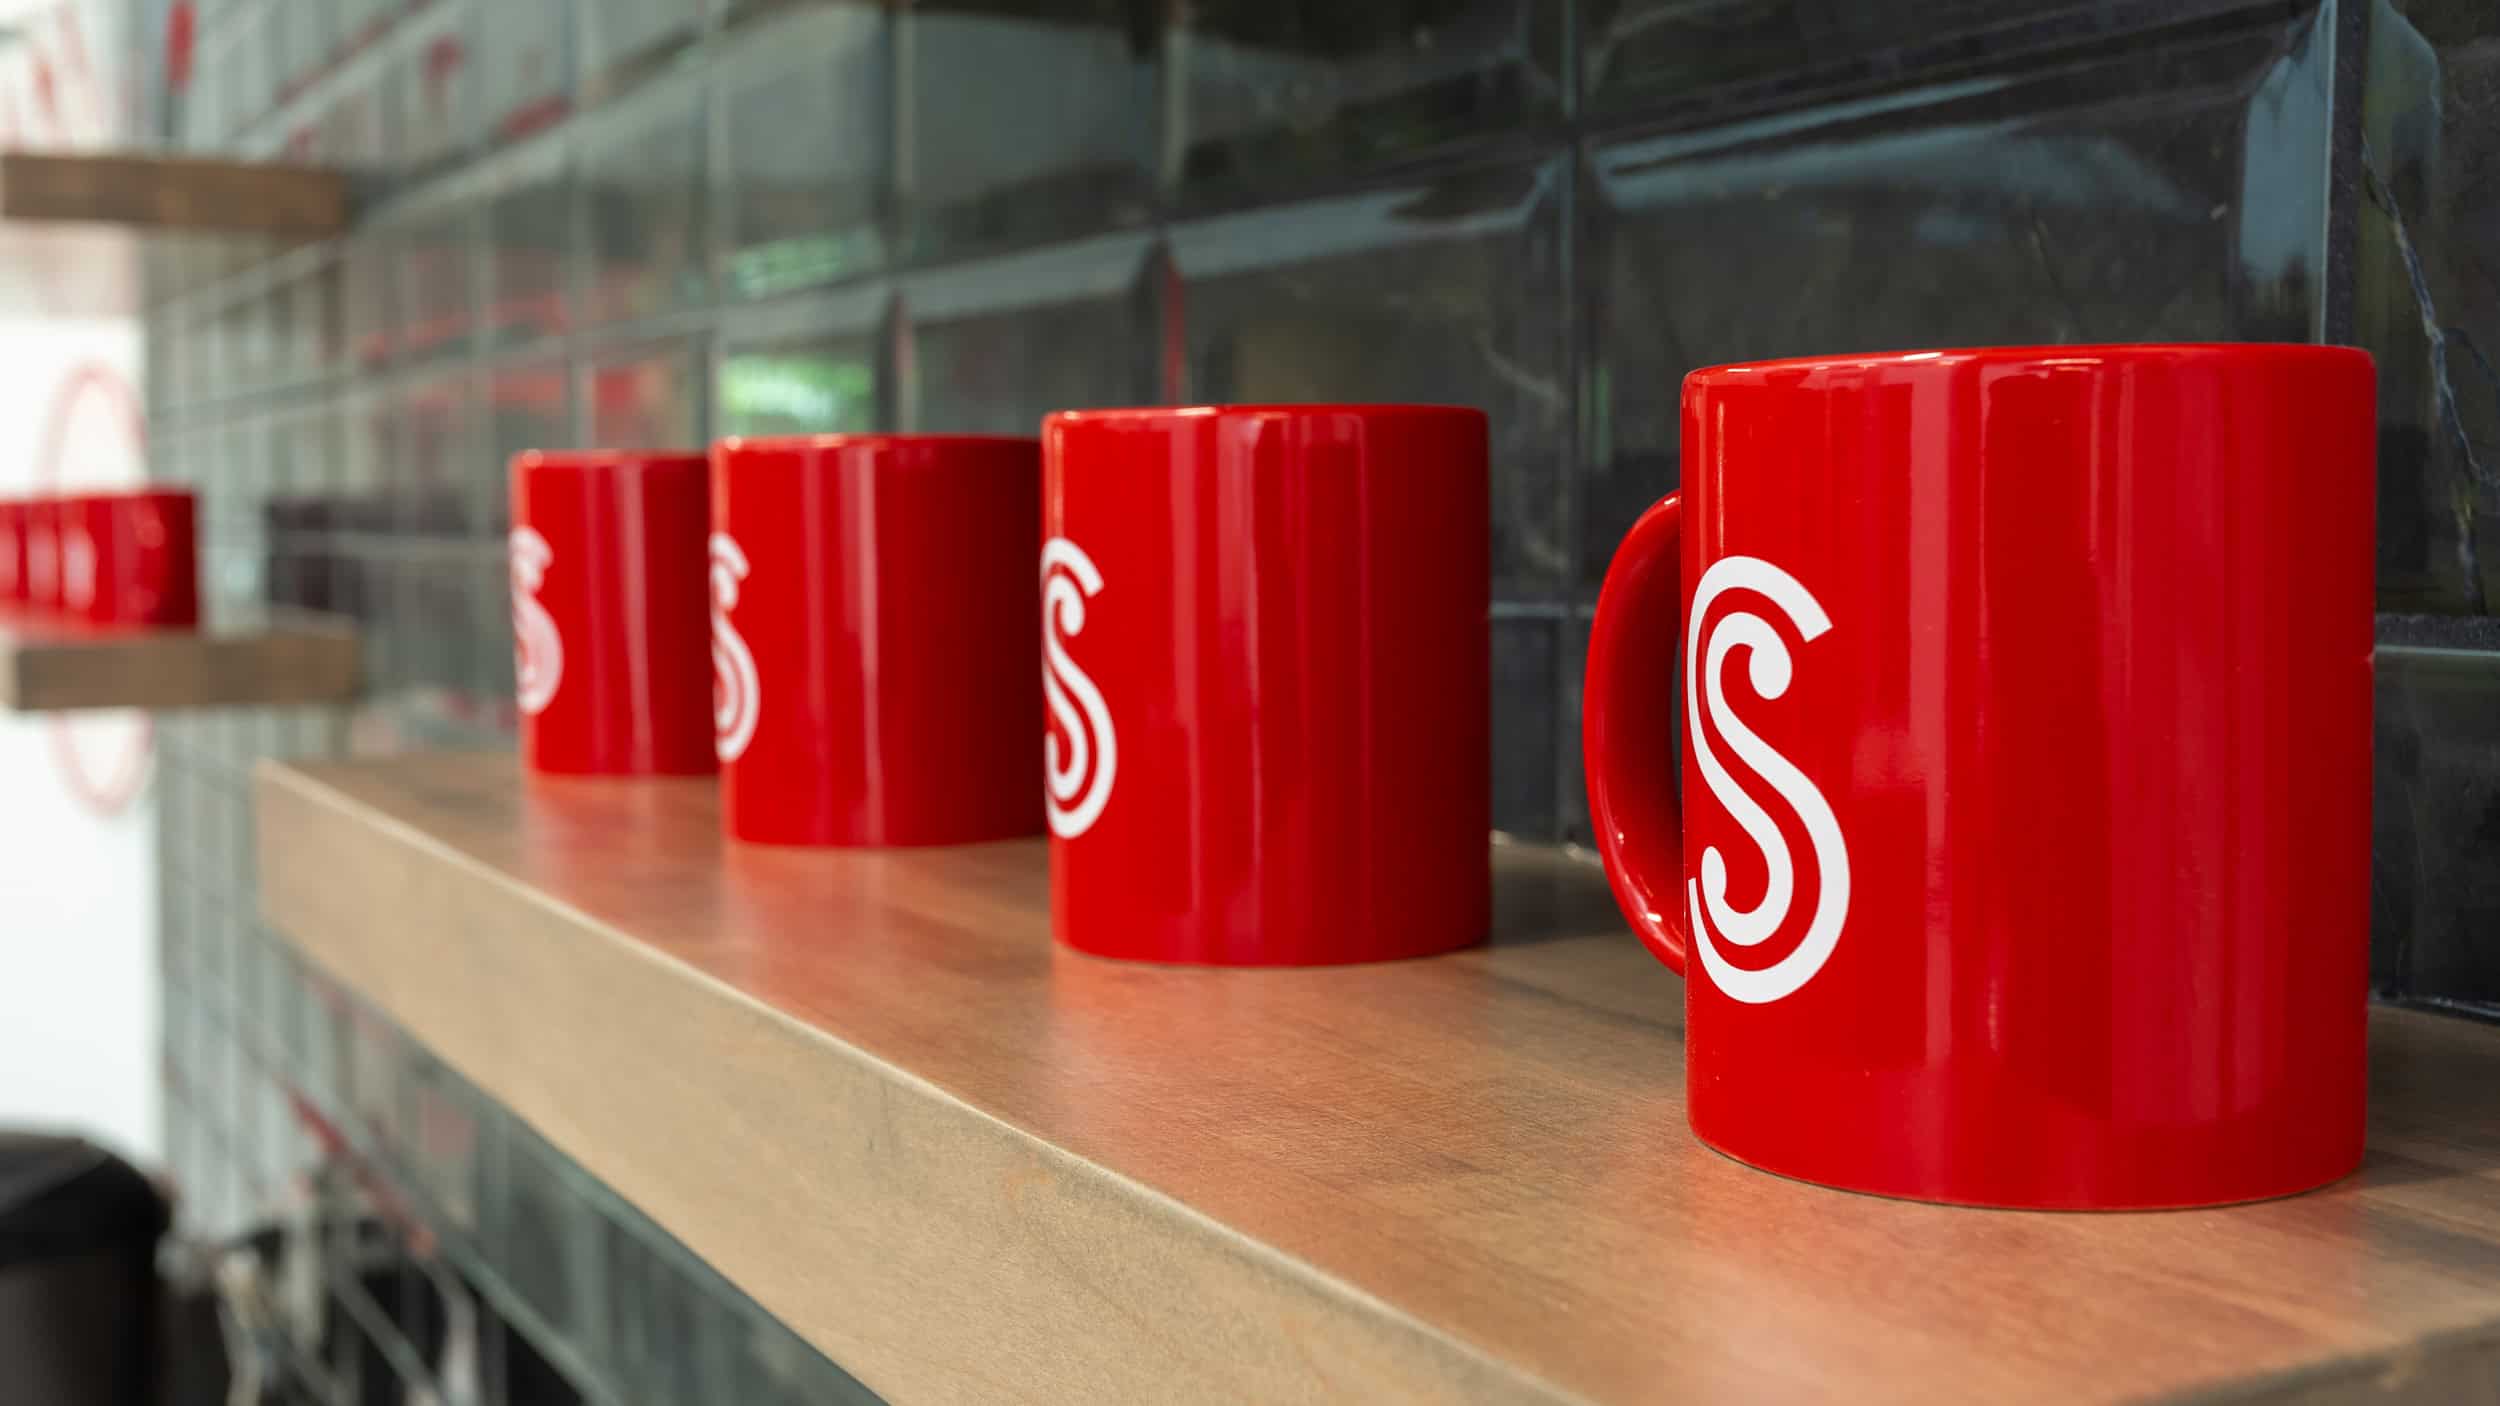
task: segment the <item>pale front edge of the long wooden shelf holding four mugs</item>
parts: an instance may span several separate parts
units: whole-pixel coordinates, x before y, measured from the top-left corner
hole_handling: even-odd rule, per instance
[[[298,951],[890,1401],[1570,1401],[312,771],[255,808]]]

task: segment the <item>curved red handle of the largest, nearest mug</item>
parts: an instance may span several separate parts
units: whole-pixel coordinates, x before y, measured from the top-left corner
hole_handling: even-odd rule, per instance
[[[1598,590],[1580,700],[1588,813],[1615,903],[1685,973],[1685,808],[1675,788],[1675,660],[1685,638],[1682,493],[1632,523]]]

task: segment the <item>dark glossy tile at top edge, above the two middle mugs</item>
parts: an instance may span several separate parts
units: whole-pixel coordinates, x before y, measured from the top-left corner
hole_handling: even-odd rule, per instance
[[[900,25],[915,263],[1148,218],[1155,23],[1130,0],[920,0]]]

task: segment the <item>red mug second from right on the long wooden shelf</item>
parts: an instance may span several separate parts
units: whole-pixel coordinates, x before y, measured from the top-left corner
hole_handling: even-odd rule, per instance
[[[1222,966],[1482,941],[1485,415],[1078,410],[1042,463],[1058,938]]]

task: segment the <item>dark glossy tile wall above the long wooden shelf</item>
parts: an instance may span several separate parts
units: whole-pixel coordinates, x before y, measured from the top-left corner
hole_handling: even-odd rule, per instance
[[[1685,370],[2358,340],[2375,981],[2500,1008],[2490,0],[322,10],[205,3],[168,125],[350,163],[372,218],[162,250],[150,408],[222,595],[368,620],[358,746],[508,736],[522,445],[1462,400],[1495,435],[1495,816],[1585,841],[1588,618],[1675,485]]]

